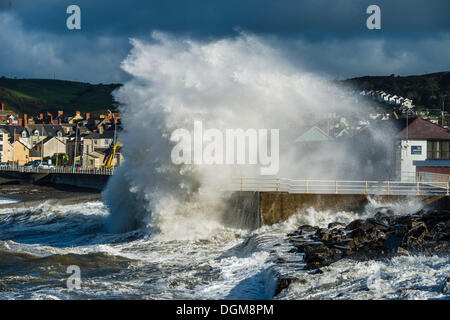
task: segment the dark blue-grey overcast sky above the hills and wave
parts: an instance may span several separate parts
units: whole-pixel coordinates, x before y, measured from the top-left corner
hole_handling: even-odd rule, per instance
[[[81,30],[66,8],[81,8]],[[366,8],[381,8],[381,30]],[[448,0],[0,0],[0,76],[122,82],[130,38],[211,41],[239,32],[333,79],[450,70]]]

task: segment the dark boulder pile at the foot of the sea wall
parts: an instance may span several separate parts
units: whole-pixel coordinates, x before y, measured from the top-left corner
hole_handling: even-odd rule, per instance
[[[343,258],[378,259],[395,254],[450,252],[450,211],[421,210],[412,215],[379,211],[373,218],[328,228],[302,225],[288,234],[291,253],[304,254],[305,270],[330,265]]]

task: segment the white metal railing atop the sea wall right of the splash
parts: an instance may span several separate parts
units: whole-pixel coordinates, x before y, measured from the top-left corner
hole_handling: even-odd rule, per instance
[[[449,195],[449,182],[293,180],[232,178],[230,191],[267,191],[304,194]]]

